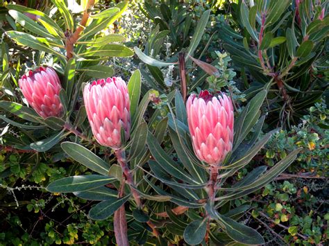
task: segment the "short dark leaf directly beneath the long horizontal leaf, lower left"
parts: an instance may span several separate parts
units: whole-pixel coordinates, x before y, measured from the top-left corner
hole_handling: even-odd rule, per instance
[[[117,197],[118,193],[106,186],[100,186],[87,191],[76,191],[74,195],[85,200],[103,201]]]

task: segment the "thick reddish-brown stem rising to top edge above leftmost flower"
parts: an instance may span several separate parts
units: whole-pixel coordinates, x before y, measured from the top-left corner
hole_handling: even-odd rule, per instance
[[[83,17],[81,18],[80,24],[76,28],[76,31],[71,34],[68,33],[67,39],[65,42],[65,49],[66,49],[66,56],[67,60],[73,57],[73,49],[74,49],[74,44],[80,37],[81,32],[85,28],[85,25],[87,24],[88,18],[89,18],[89,12],[88,10],[94,5],[95,0],[88,0],[87,5],[85,6],[85,11],[83,12]],[[70,30],[69,30],[70,32]]]

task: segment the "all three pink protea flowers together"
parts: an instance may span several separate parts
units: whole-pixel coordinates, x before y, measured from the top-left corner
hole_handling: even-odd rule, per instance
[[[28,104],[43,118],[62,116],[60,79],[51,67],[40,67],[19,79]],[[83,100],[96,140],[115,150],[121,148],[121,130],[130,137],[130,99],[126,82],[113,77],[85,85]],[[233,104],[225,94],[201,91],[187,103],[187,121],[196,156],[210,166],[219,165],[233,148]]]

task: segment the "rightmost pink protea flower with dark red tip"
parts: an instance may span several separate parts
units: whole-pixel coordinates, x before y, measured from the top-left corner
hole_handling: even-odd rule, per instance
[[[225,94],[212,96],[201,91],[199,98],[187,99],[187,121],[196,156],[206,163],[219,165],[233,147],[233,105]]]

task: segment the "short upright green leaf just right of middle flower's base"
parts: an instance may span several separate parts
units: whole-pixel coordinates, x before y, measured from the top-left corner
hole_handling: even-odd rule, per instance
[[[131,147],[128,159],[133,159],[140,155],[146,146],[147,124],[143,120],[140,125],[137,126],[136,130],[133,132],[133,138],[131,140]]]

